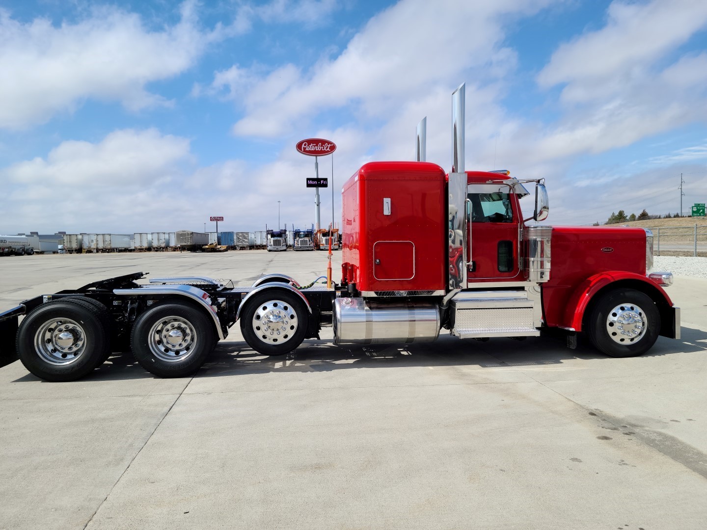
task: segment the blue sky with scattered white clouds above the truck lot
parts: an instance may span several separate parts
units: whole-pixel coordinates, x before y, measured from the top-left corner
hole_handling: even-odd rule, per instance
[[[308,137],[339,216],[423,116],[449,169],[464,81],[467,170],[545,177],[552,223],[707,199],[703,0],[0,1],[0,72],[8,234],[309,225]]]

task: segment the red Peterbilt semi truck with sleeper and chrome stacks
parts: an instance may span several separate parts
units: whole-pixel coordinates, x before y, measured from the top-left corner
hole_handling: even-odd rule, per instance
[[[543,180],[465,171],[463,85],[452,107],[451,172],[421,160],[419,139],[419,161],[368,163],[344,184],[333,288],[286,274],[238,288],[206,277],[137,283],[135,273],[25,300],[0,314],[1,336],[16,336],[25,367],[51,381],[127,349],[155,375],[191,375],[236,322],[265,355],[293,351],[322,326],[336,344],[555,331],[575,347],[584,334],[614,357],[679,338],[679,308],[663,289],[672,274],[651,271],[650,231],[529,224],[549,211]]]

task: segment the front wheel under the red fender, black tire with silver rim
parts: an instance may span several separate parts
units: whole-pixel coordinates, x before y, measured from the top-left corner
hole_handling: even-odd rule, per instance
[[[660,333],[660,312],[645,293],[617,289],[601,295],[587,321],[597,350],[610,357],[637,357],[650,350]]]

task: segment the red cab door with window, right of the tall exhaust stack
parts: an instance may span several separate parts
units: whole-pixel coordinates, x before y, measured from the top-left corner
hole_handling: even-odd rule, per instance
[[[467,186],[467,284],[520,281],[518,197],[507,184]]]

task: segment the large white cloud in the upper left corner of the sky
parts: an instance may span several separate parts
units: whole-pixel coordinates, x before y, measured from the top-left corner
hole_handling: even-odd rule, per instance
[[[46,122],[86,98],[119,101],[133,111],[168,105],[146,85],[189,69],[209,42],[227,33],[221,26],[201,30],[195,11],[187,1],[180,22],[153,31],[136,14],[113,7],[59,26],[45,18],[21,23],[0,10],[0,127]]]

